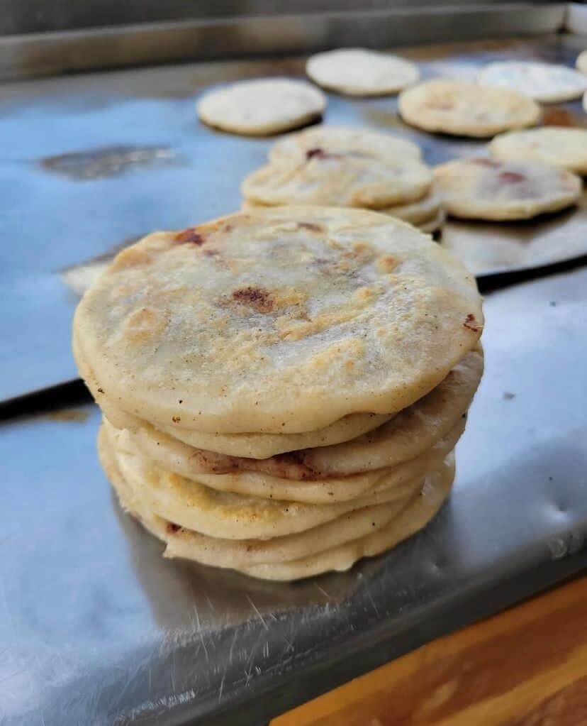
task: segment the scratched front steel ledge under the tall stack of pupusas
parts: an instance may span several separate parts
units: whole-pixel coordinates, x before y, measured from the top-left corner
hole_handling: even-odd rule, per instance
[[[93,406],[5,422],[2,725],[258,726],[584,568],[587,269],[485,309],[448,505],[345,574],[266,584],[163,560],[110,494]]]

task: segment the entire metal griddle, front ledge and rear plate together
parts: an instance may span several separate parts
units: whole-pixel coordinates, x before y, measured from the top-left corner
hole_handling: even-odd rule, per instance
[[[409,54],[428,75],[432,61],[463,73],[493,57],[570,62],[585,45],[549,37]],[[77,298],[63,270],[239,205],[239,181],[269,142],[198,126],[197,93],[301,68],[299,59],[183,65],[1,89],[2,399],[76,375]],[[578,107],[561,113],[576,119]],[[392,99],[331,96],[326,121],[398,129],[430,163],[479,148],[403,129]],[[587,245],[583,213],[557,223]],[[486,372],[453,496],[416,537],[343,574],[268,584],[163,560],[110,493],[95,451],[99,412],[81,385],[4,404],[0,723],[258,726],[584,568],[582,262],[510,271],[536,279],[488,292]],[[503,285],[502,271],[490,272],[485,289]]]

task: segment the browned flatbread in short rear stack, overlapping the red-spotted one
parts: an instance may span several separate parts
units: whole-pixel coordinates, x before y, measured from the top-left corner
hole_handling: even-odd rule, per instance
[[[332,152],[311,148],[300,161],[280,158],[249,174],[241,189],[258,205],[380,208],[421,199],[430,184],[430,168],[412,155],[349,144]]]

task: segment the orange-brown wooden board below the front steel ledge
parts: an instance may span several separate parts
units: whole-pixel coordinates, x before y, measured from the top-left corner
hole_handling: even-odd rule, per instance
[[[414,650],[271,726],[587,724],[587,578]]]

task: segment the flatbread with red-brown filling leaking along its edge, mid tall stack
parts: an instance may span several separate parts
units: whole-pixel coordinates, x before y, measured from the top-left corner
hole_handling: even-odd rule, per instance
[[[214,477],[202,479],[202,474],[226,474],[232,472],[255,471],[262,473],[263,486],[276,499],[296,499],[297,497],[279,494],[283,487],[282,479],[290,479],[300,486],[300,482],[326,480],[327,489],[332,489],[330,481],[333,477],[348,479],[365,471],[377,470],[381,476],[382,468],[412,460],[415,457],[428,455],[438,441],[451,439],[451,431],[456,432],[457,439],[451,440],[452,449],[460,436],[457,431],[459,423],[469,408],[481,375],[483,373],[483,354],[471,351],[464,356],[459,364],[448,374],[445,380],[433,391],[416,401],[411,407],[404,409],[389,423],[374,429],[369,434],[340,444],[324,446],[316,449],[300,449],[291,454],[279,455],[270,459],[256,460],[244,457],[229,457],[215,452],[203,451],[188,446],[171,436],[157,431],[147,423],[131,433],[136,446],[143,454],[157,462],[163,468],[202,481],[213,487],[220,487],[231,492],[263,496],[258,490],[246,491],[250,480],[241,481],[238,477],[226,480],[217,479],[221,484],[213,484]],[[464,423],[463,423],[464,425]],[[446,452],[441,452],[442,457]],[[358,479],[356,480],[358,482]],[[245,484],[243,484],[245,482]],[[369,487],[375,480],[361,479],[360,486]],[[238,488],[234,488],[237,486]],[[340,482],[337,486],[342,487]],[[354,486],[354,484],[353,484]],[[348,487],[350,490],[350,486]],[[362,491],[362,490],[361,490]],[[313,492],[308,487],[308,492]],[[330,493],[329,496],[334,496]]]

